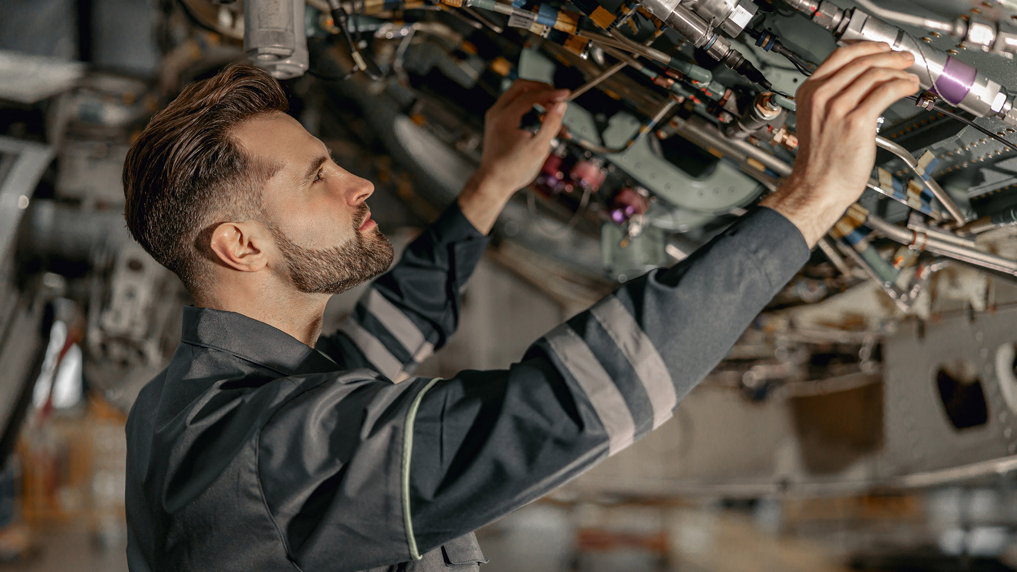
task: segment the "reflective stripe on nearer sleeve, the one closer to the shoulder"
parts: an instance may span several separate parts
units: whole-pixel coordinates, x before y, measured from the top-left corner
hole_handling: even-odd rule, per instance
[[[545,339],[593,404],[607,432],[608,454],[632,445],[636,438],[632,411],[590,346],[566,324],[552,330]]]

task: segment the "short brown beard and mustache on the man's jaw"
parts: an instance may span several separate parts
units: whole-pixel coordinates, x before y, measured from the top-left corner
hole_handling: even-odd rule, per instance
[[[360,232],[367,220],[365,205],[353,217],[353,239],[342,246],[305,248],[273,224],[266,225],[286,261],[290,282],[307,294],[338,294],[381,274],[392,265],[392,243],[375,226]]]

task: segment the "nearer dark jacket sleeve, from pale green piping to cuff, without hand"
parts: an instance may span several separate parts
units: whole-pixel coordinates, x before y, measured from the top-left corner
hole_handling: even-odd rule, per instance
[[[410,554],[545,495],[667,420],[807,258],[793,224],[757,208],[558,326],[507,370],[424,386],[404,443]]]

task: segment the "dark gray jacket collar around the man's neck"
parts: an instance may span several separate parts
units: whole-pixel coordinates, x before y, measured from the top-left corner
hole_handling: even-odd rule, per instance
[[[320,351],[278,328],[235,311],[184,306],[180,341],[226,351],[284,376],[339,369]]]

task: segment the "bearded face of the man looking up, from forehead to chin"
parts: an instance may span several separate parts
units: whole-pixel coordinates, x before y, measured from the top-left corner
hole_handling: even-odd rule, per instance
[[[275,113],[234,131],[252,158],[281,168],[264,184],[260,221],[275,265],[301,292],[335,294],[385,271],[392,244],[364,201],[374,185],[346,171],[296,119]]]

